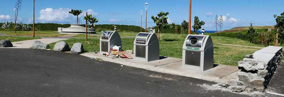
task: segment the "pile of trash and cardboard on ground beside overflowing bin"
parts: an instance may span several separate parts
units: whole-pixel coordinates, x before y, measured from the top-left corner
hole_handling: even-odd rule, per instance
[[[103,55],[108,57],[118,57],[118,58],[128,58],[128,59],[133,58],[133,55],[131,54],[132,50],[123,51],[120,47],[121,46],[113,46],[112,50],[110,50],[108,53],[104,53]]]

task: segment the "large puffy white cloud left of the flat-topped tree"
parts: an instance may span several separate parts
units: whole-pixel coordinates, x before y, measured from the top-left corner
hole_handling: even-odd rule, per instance
[[[53,10],[52,8],[46,8],[41,10],[41,14],[38,18],[42,22],[67,22],[71,21],[72,14],[69,13],[69,8],[59,8]]]

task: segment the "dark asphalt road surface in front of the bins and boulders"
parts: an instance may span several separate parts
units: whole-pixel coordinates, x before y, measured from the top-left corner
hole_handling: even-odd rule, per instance
[[[247,96],[207,90],[202,84],[216,83],[64,52],[0,48],[1,97]]]

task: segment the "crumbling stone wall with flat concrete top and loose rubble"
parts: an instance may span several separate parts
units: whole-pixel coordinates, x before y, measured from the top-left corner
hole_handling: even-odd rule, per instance
[[[263,92],[283,57],[282,47],[268,46],[238,62],[238,79],[219,84],[236,92]]]

